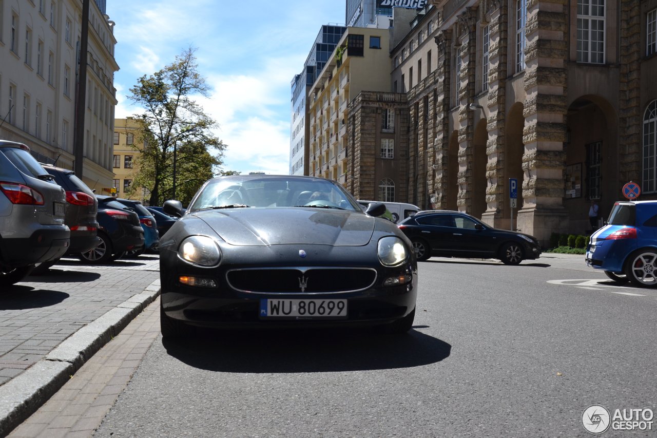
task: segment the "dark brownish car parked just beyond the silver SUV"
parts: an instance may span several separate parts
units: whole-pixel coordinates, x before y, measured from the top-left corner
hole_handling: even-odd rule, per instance
[[[77,255],[95,248],[100,240],[97,235],[98,201],[93,191],[80,180],[73,170],[59,168],[52,164],[41,166],[55,178],[55,182],[66,191],[66,216],[64,224],[71,230],[71,244],[65,255]],[[43,273],[57,260],[39,264],[32,274]]]

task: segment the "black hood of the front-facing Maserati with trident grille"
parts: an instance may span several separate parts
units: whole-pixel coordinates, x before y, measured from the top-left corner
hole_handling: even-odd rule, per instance
[[[360,212],[319,208],[231,208],[195,212],[231,245],[303,243],[332,246],[367,245],[374,218]]]

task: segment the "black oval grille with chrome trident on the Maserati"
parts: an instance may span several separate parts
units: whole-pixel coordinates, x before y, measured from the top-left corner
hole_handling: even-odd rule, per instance
[[[344,293],[369,289],[373,268],[252,268],[226,274],[233,287],[250,293]]]

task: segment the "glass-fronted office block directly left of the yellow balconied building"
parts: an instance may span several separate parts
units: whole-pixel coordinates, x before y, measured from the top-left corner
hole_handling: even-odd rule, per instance
[[[304,69],[292,79],[292,124],[290,130],[290,175],[303,175],[307,164],[306,97],[317,75],[326,65],[335,46],[344,34],[345,26],[325,24],[311,47]]]

